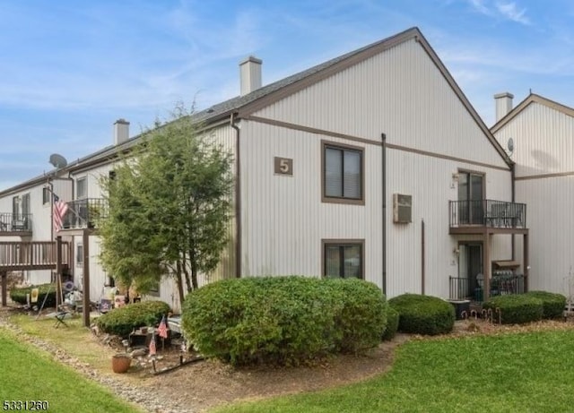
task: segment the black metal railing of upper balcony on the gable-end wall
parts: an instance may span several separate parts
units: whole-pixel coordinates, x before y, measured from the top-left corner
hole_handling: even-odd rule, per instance
[[[478,200],[449,201],[450,227],[526,228],[526,203]]]

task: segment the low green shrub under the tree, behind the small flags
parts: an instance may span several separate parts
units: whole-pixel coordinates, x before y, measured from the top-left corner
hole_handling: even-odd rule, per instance
[[[96,319],[100,331],[127,338],[134,329],[144,325],[160,323],[161,317],[168,314],[170,305],[163,301],[143,301],[114,308]]]

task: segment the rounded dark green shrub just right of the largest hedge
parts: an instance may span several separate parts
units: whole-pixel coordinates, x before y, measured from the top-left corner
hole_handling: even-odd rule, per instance
[[[455,325],[455,309],[439,297],[403,294],[388,300],[399,314],[398,331],[445,334]]]

